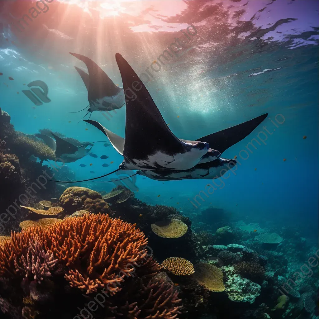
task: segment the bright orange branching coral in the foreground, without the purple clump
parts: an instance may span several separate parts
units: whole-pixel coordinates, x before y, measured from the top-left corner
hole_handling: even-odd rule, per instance
[[[15,269],[23,268],[19,261],[28,255],[33,234],[41,239],[38,249],[52,251],[58,263],[69,269],[65,278],[70,285],[86,293],[106,287],[112,295],[121,290],[115,283],[132,276],[136,266],[147,265],[148,274],[161,268],[147,254],[145,235],[135,226],[104,214],[85,214],[46,228],[31,226],[11,233],[12,241],[0,246],[0,276],[19,276]]]

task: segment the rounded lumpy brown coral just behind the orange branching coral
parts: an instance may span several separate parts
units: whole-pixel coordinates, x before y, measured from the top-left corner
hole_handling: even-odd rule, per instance
[[[79,199],[80,204],[79,205]],[[83,201],[83,203],[82,203]],[[78,210],[91,213],[108,212],[108,204],[100,193],[85,187],[69,187],[60,197],[61,206],[70,214]]]

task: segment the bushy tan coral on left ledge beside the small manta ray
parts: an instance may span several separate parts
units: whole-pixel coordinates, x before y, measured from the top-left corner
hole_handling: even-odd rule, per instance
[[[14,132],[11,148],[18,156],[34,155],[40,159],[56,159],[55,152],[48,145],[19,131]]]

